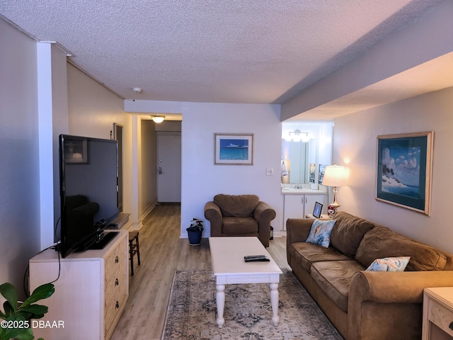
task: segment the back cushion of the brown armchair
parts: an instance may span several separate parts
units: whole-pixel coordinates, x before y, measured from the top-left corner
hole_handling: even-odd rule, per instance
[[[256,195],[224,195],[214,196],[214,203],[217,204],[223,216],[246,217],[253,214],[259,198]]]

